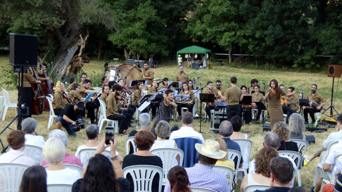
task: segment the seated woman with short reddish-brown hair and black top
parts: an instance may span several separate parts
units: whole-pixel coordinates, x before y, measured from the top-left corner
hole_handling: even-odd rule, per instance
[[[149,152],[154,143],[154,140],[156,140],[156,137],[152,132],[139,131],[138,133],[136,133],[134,136],[134,141],[139,151],[125,156],[122,163],[122,169],[133,165],[154,165],[163,168],[163,163],[160,157],[155,156],[154,154]],[[152,192],[158,191],[159,177],[162,176],[156,174],[152,180]],[[132,176],[128,174],[126,178],[130,181],[130,191],[133,192],[134,184]]]

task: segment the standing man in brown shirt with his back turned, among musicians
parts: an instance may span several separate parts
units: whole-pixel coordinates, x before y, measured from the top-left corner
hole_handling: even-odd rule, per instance
[[[227,120],[230,121],[231,118],[235,115],[239,115],[239,101],[242,100],[242,92],[236,86],[237,78],[231,77],[230,84],[231,88],[228,88],[224,95],[219,91],[218,95],[224,100],[227,101],[226,106],[226,113],[227,113]]]

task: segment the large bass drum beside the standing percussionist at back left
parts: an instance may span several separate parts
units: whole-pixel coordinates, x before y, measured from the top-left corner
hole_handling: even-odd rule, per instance
[[[141,70],[139,70],[137,67],[133,67],[133,65],[131,64],[120,64],[120,65],[116,65],[115,67],[120,69],[120,72],[119,72],[120,79],[123,79],[129,73],[127,76],[127,80],[125,82],[125,85],[127,86],[129,86],[129,83],[132,80],[143,79],[141,75]]]

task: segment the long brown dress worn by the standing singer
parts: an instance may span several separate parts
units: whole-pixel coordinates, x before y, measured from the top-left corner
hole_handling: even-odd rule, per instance
[[[280,91],[281,95],[286,95],[286,93],[281,89]],[[272,91],[268,94],[267,110],[269,114],[269,120],[271,121],[271,129],[277,121],[284,121],[280,100],[277,98],[277,95],[272,93]]]

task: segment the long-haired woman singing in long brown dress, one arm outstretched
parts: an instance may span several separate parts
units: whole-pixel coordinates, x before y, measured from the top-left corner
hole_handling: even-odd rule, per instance
[[[280,104],[280,96],[286,95],[294,95],[295,91],[292,93],[285,93],[279,86],[278,81],[272,79],[269,83],[268,92],[265,95],[265,99],[268,100],[267,110],[269,114],[269,120],[271,124],[271,129],[273,125],[278,121],[284,121],[284,116]]]

